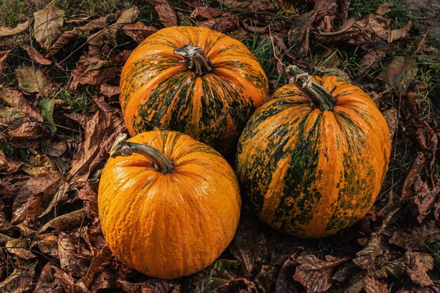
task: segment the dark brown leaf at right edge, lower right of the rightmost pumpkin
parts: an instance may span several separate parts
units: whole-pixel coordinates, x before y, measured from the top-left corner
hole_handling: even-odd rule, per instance
[[[440,229],[434,221],[429,221],[412,230],[397,230],[389,243],[405,249],[420,250],[437,241],[440,241]]]

